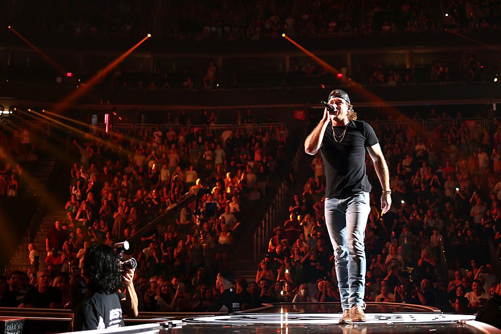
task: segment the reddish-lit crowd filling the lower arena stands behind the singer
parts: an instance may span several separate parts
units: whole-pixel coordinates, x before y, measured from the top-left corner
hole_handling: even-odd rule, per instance
[[[485,161],[483,152],[498,150],[501,126],[497,121],[488,129],[475,122],[458,124],[434,131],[434,139],[428,141],[424,133],[418,134],[412,127],[390,128],[376,123],[383,149],[389,152],[391,188],[400,201],[394,201],[392,210],[380,216],[378,189],[371,193],[366,232],[366,301],[444,307],[449,300],[450,309],[475,311],[490,298],[497,278],[485,259],[471,255],[468,266],[459,258],[451,259],[447,263],[453,269],[450,282],[444,276],[438,280],[437,276],[448,270],[441,258],[442,247],[482,246],[489,239],[496,247],[499,243],[496,236],[501,196],[496,194],[501,192],[501,182],[493,169],[495,155],[488,157],[482,173],[479,166],[481,159]],[[276,150],[284,142],[278,142],[275,129],[266,133],[225,133],[226,141],[221,146],[213,134],[193,128],[169,136],[161,132],[142,133],[145,141],[130,141],[116,134],[108,142],[87,136],[78,144],[81,166],[72,169],[72,184],[83,183],[85,195],[79,201],[69,194],[67,215],[74,223],[72,227],[62,224],[70,234],[67,240],[61,240],[61,253],[70,263],[62,263],[60,269],[65,265],[69,269],[78,267],[82,247],[105,240],[110,244],[121,241],[136,233],[150,217],[165,212],[194,186],[193,177],[187,182],[186,175],[195,171],[199,182],[214,192],[212,197],[202,199],[200,217],[190,216],[193,208],[181,211],[166,226],[133,244],[130,255],[139,254],[135,282],[140,310],[204,311],[220,294],[212,287],[216,273],[227,266],[225,255],[231,254],[234,247],[232,235],[238,229],[231,225],[238,226],[240,211],[249,205],[246,195],[252,189],[250,185],[257,184],[252,174],[260,166],[271,170],[269,158],[279,157]],[[256,142],[263,145],[256,146]],[[262,148],[262,152],[256,154],[253,147]],[[225,155],[219,154],[222,163],[218,160],[214,164],[208,157],[214,158],[218,149]],[[177,155],[175,166],[169,166],[164,152]],[[269,240],[268,255],[260,262],[256,281],[237,280],[235,292],[242,308],[266,301],[339,299],[321,211],[323,175],[316,168],[322,164],[321,159],[320,155],[315,157],[312,177],[301,186],[303,194],[291,196],[289,219],[274,229],[275,236]],[[166,171],[164,177],[162,171]],[[374,181],[377,176],[371,169],[368,171]],[[87,219],[75,219],[82,210],[88,212]],[[57,226],[53,230],[57,231]],[[38,287],[33,290],[38,291],[36,294],[30,292],[28,282],[20,283],[21,273],[8,277],[8,291],[16,294],[17,304],[65,304],[64,294],[46,293],[50,278],[45,275],[56,277],[59,269],[52,259],[48,262],[53,272],[38,271]],[[55,285],[64,286],[64,282]],[[468,300],[466,306],[463,298]]]

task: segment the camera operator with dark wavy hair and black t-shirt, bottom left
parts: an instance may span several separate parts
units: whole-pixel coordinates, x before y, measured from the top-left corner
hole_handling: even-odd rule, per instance
[[[123,326],[122,309],[128,316],[138,315],[138,297],[132,283],[134,269],[128,269],[122,276],[111,247],[104,244],[89,247],[82,264],[85,285],[80,284],[81,291],[76,293],[86,297],[80,304],[73,299],[76,306],[73,330]],[[119,292],[122,284],[125,285],[125,295]]]

